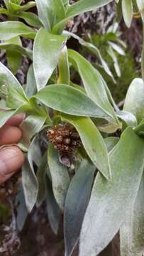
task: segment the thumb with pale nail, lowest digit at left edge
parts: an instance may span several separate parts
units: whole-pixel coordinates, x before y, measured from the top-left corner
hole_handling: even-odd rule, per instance
[[[4,183],[21,168],[24,156],[17,146],[9,146],[0,151],[0,183]]]

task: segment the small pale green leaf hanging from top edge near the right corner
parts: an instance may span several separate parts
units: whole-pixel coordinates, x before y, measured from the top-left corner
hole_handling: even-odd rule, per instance
[[[122,0],[123,18],[128,28],[131,27],[133,19],[133,2],[132,0]]]

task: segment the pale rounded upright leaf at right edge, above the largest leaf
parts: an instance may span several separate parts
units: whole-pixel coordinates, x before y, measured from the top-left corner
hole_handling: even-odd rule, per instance
[[[144,83],[140,78],[135,78],[131,82],[126,95],[123,110],[131,112],[141,121],[144,115]]]

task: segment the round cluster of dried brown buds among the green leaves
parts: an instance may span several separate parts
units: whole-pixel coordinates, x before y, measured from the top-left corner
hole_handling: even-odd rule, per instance
[[[48,130],[48,139],[62,154],[72,154],[81,140],[77,131],[70,124],[58,124]]]

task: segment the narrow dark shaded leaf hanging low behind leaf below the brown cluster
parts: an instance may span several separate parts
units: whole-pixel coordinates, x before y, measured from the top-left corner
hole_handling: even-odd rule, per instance
[[[60,208],[57,205],[57,202],[55,201],[55,196],[52,191],[52,183],[50,181],[50,178],[48,178],[48,176],[45,176],[45,179],[46,179],[45,202],[46,202],[46,210],[48,213],[48,220],[53,233],[57,235],[59,219],[60,219]]]

